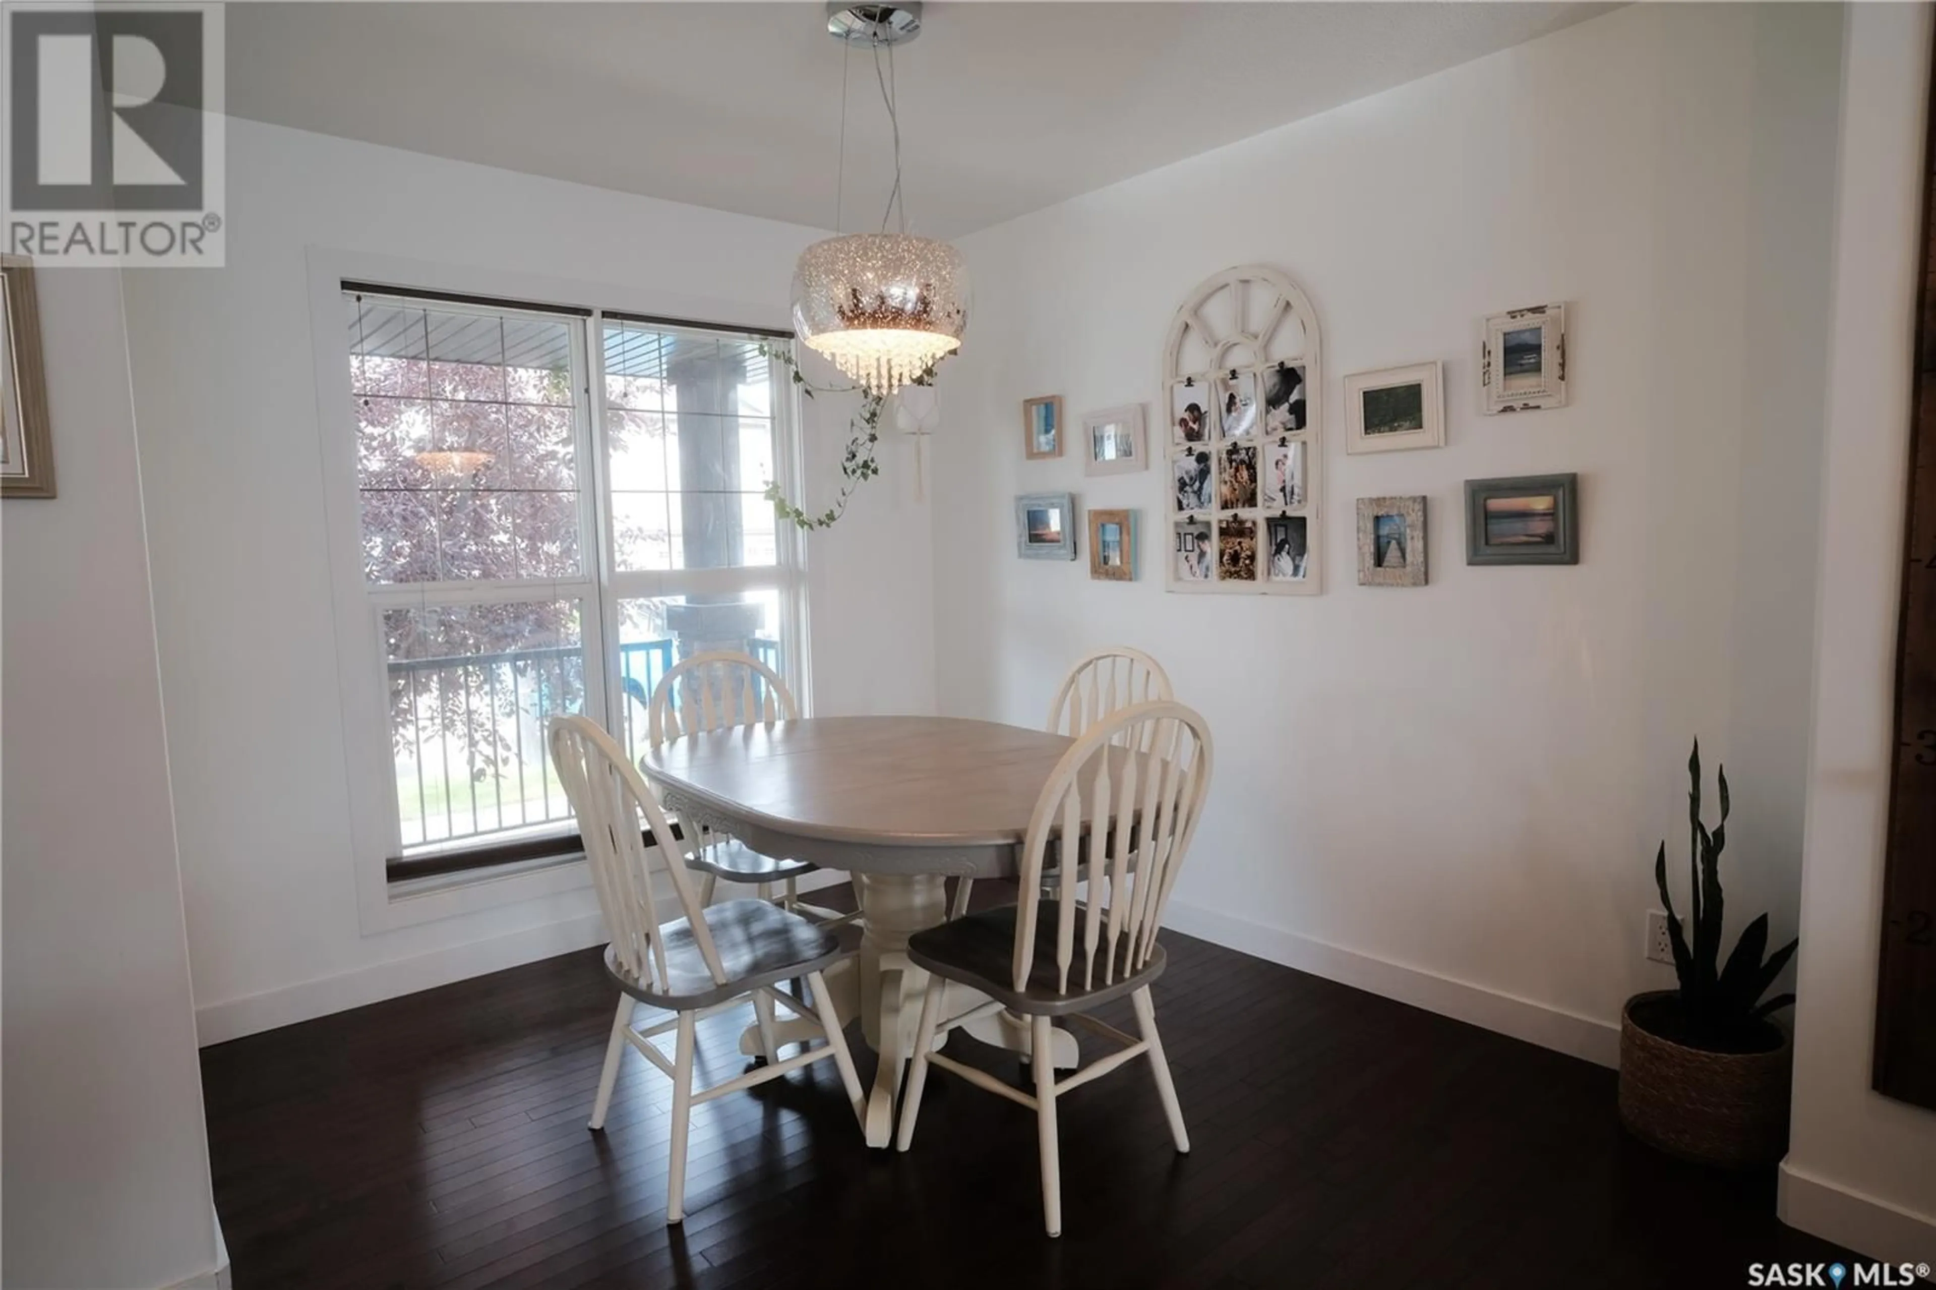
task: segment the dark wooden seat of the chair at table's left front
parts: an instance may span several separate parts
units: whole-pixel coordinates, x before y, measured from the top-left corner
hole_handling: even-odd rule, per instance
[[[629,976],[620,967],[618,953],[606,945],[606,972],[620,990],[641,1003],[668,1011],[711,1007],[755,986],[819,972],[860,947],[858,932],[842,937],[838,930],[823,928],[767,901],[724,901],[701,912],[720,953],[724,986],[707,970],[691,922],[680,918],[660,928],[666,945],[664,992]]]

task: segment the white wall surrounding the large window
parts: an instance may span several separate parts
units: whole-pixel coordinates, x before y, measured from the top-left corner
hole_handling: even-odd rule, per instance
[[[379,256],[480,292],[538,283],[585,304],[786,325],[794,258],[821,236],[242,120],[228,126],[228,267],[128,285],[203,1042],[596,937],[583,887],[374,936],[358,922],[308,256]],[[807,415],[825,492],[846,413],[817,401]],[[889,465],[813,538],[821,711],[933,705],[929,525]]]

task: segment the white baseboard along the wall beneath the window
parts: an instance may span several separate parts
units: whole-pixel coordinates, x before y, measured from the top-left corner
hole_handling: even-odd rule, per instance
[[[807,874],[800,879],[800,891],[836,887],[846,881],[846,874]],[[352,972],[197,1007],[196,1038],[205,1048],[242,1038],[244,1034],[275,1030],[298,1021],[362,1007],[364,1003],[379,1003],[405,994],[416,994],[418,990],[484,976],[486,972],[501,972],[503,968],[565,955],[573,949],[587,949],[602,941],[604,924],[598,914],[583,914],[507,936],[434,949],[408,959],[372,963]]]

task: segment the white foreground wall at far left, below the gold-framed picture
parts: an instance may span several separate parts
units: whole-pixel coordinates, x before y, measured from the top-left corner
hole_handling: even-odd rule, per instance
[[[60,496],[0,506],[8,1286],[215,1269],[122,285],[45,269]]]

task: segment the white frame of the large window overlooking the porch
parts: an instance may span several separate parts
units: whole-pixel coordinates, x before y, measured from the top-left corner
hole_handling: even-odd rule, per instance
[[[381,587],[364,577],[362,552],[362,500],[356,475],[356,413],[348,380],[348,333],[343,327],[343,283],[383,283],[385,287],[410,292],[443,292],[472,296],[480,300],[503,300],[505,308],[519,304],[590,310],[589,316],[573,318],[585,331],[583,351],[585,380],[590,391],[585,413],[587,422],[581,438],[581,451],[587,451],[590,478],[581,490],[581,515],[589,511],[581,531],[581,550],[592,554],[587,560],[587,577],[577,581],[521,581],[513,585],[469,581],[439,583],[438,591],[428,587]],[[482,912],[507,905],[530,901],[552,901],[556,914],[550,922],[530,928],[521,936],[542,937],[546,947],[556,951],[575,949],[598,936],[598,910],[590,901],[590,875],[583,854],[561,854],[544,860],[467,870],[441,877],[420,877],[410,881],[391,881],[387,858],[395,854],[401,837],[395,786],[395,761],[389,748],[389,680],[387,649],[381,630],[379,600],[381,591],[391,604],[420,606],[443,602],[474,602],[480,591],[503,589],[530,593],[530,599],[548,599],[554,589],[590,587],[583,614],[581,639],[598,639],[598,659],[604,668],[587,668],[587,701],[596,697],[598,713],[614,719],[614,705],[623,701],[618,686],[606,686],[606,678],[618,670],[618,631],[616,600],[635,595],[693,595],[707,591],[730,591],[736,585],[747,589],[780,589],[782,606],[782,674],[796,690],[802,709],[809,711],[811,664],[807,657],[807,562],[805,542],[792,525],[778,523],[774,529],[774,566],[749,569],[672,569],[652,573],[621,573],[614,577],[612,535],[608,525],[610,490],[606,486],[604,461],[604,318],[621,316],[621,322],[641,322],[678,310],[689,318],[732,318],[745,316],[759,320],[761,308],[730,300],[639,300],[620,294],[600,296],[604,289],[585,283],[569,283],[521,275],[513,271],[494,271],[459,265],[439,265],[426,261],[395,260],[389,256],[370,256],[341,252],[331,248],[308,250],[310,287],[310,329],[316,376],[316,409],[321,457],[323,507],[329,538],[329,587],[337,635],[337,686],[343,711],[345,779],[348,804],[348,846],[356,877],[356,910],[364,936],[379,936],[401,928],[410,928],[441,918]],[[443,308],[439,302],[438,308]],[[542,308],[529,312],[542,314]],[[780,320],[774,320],[778,323]],[[778,335],[774,323],[759,325],[697,325],[691,329],[716,333],[740,331],[745,335]],[[658,325],[658,323],[652,323]],[[674,323],[664,323],[668,329]],[[776,341],[778,343],[778,341]],[[772,401],[774,457],[772,469],[780,488],[788,496],[798,496],[802,476],[802,407],[798,389],[784,376],[774,378]],[[569,595],[569,593],[563,593]],[[596,688],[596,690],[594,690]],[[621,717],[621,715],[620,715]],[[616,728],[616,726],[614,726]],[[561,905],[558,903],[561,901]]]

